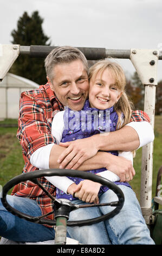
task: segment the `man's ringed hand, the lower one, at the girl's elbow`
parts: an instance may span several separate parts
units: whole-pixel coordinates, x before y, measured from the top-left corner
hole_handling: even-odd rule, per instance
[[[127,160],[125,157],[121,156],[112,155],[112,157],[109,158],[109,163],[106,166],[106,169],[111,170],[118,175],[120,182],[130,181],[135,175],[131,160]]]

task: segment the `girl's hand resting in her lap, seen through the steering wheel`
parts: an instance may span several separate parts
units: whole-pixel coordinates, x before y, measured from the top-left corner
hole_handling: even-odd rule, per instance
[[[82,180],[74,190],[75,197],[86,203],[99,204],[98,193],[101,184],[91,180]]]

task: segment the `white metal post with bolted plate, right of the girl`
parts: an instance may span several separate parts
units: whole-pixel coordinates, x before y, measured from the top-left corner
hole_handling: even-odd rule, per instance
[[[132,49],[130,59],[137,70],[141,82],[145,86],[144,111],[151,120],[154,129],[155,92],[157,86],[157,50]],[[147,132],[147,131],[146,131]],[[142,148],[140,206],[146,224],[152,223],[152,170],[153,170],[153,142]]]

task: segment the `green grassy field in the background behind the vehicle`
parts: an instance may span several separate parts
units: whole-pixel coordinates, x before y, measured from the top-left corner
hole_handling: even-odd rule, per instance
[[[5,127],[2,125],[4,124]],[[13,127],[8,127],[7,124]],[[16,138],[17,120],[0,121],[0,185],[3,186],[12,177],[22,173],[24,161],[22,157],[21,146]],[[155,117],[155,139],[154,139],[154,156],[153,156],[153,185],[152,197],[155,195],[155,185],[157,173],[162,165],[162,116]],[[140,173],[141,173],[141,149],[137,151],[134,159],[135,176],[130,182],[133,190],[140,200]]]

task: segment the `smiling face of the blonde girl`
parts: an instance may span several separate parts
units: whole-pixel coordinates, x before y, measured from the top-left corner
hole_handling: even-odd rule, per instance
[[[122,92],[116,87],[115,80],[108,68],[90,79],[89,102],[90,106],[100,110],[114,106],[121,97]]]

